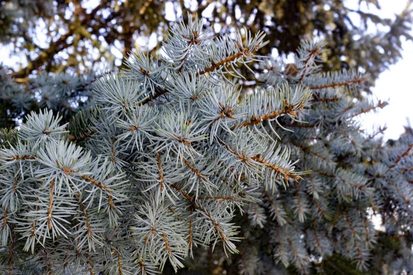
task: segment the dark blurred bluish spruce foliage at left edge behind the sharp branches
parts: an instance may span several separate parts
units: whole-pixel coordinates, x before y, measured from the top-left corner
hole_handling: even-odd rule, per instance
[[[50,108],[65,120],[92,104],[92,87],[96,76],[85,74],[39,74],[27,85],[18,83],[0,67],[0,127],[14,127],[30,111]]]

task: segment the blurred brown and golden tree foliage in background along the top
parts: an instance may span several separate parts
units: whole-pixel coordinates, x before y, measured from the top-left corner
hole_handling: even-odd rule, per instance
[[[402,0],[403,1],[403,0]],[[13,76],[25,82],[41,71],[113,69],[130,51],[156,52],[169,23],[181,15],[204,17],[217,34],[248,26],[270,43],[261,54],[295,52],[301,39],[328,42],[328,69],[357,67],[377,78],[401,57],[409,34],[411,1],[395,19],[363,12],[379,0],[6,0],[0,1],[0,42],[18,58]]]

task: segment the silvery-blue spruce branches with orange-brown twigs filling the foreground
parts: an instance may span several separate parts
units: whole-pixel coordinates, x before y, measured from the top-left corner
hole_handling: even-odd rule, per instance
[[[412,272],[412,129],[363,133],[386,103],[366,75],[321,72],[323,41],[288,65],[264,45],[177,23],[165,55],[131,54],[70,124],[41,109],[1,131],[2,270],[158,274],[211,268],[214,250],[230,274]],[[260,85],[238,85],[240,66]]]

